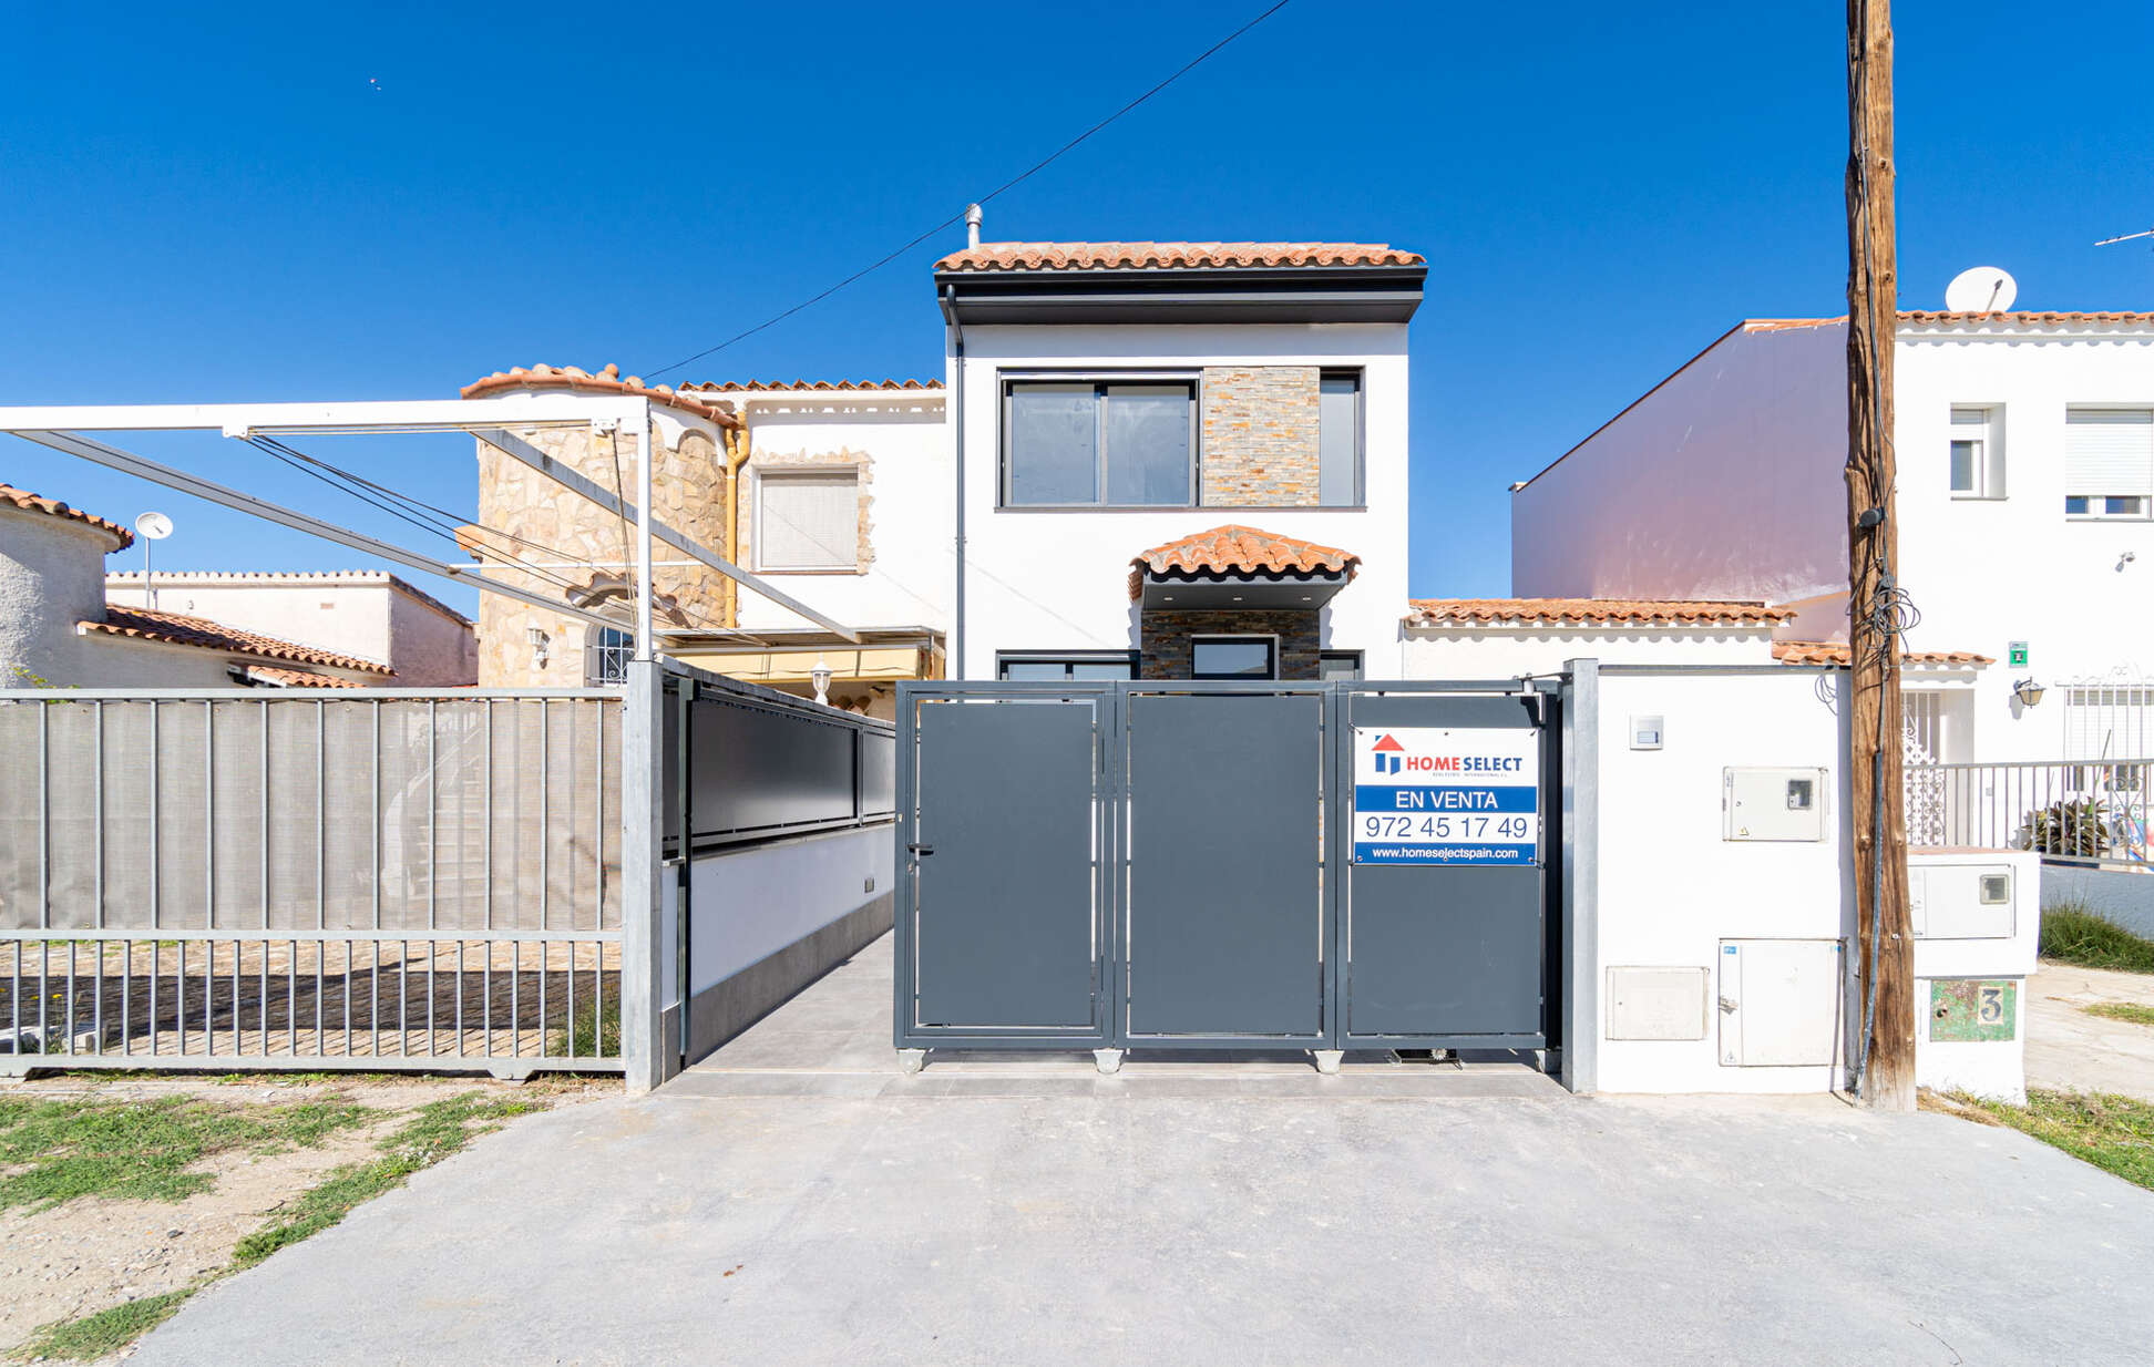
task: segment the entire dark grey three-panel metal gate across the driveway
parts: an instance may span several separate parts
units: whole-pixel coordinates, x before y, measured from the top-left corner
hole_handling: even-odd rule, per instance
[[[1553,687],[900,685],[900,1048],[1547,1048],[1559,840],[1355,859],[1355,732],[1527,732]],[[1366,747],[1366,745],[1363,745]]]

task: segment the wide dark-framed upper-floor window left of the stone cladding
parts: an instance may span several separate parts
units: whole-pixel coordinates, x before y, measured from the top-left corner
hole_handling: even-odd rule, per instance
[[[1004,381],[1006,508],[1189,508],[1195,502],[1193,379]]]

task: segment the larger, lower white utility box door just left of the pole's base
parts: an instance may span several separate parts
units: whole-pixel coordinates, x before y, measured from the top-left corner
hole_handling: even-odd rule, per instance
[[[1801,1068],[1840,1057],[1840,941],[1721,941],[1721,1066]]]

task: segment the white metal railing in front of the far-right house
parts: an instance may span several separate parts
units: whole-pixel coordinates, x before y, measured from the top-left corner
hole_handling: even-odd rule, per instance
[[[1908,840],[2148,865],[2154,760],[1911,764]]]

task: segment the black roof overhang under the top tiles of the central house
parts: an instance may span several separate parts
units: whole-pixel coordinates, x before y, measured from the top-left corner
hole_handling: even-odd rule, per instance
[[[935,271],[943,314],[991,323],[1404,323],[1426,265]]]

